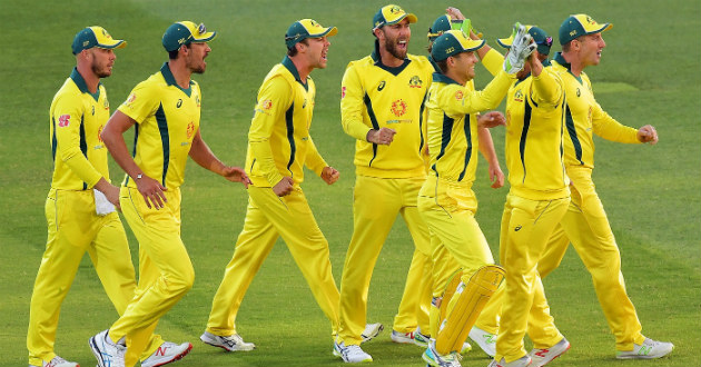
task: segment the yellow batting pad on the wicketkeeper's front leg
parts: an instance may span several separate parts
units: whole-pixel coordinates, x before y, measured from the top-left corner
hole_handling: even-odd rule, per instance
[[[461,282],[454,295],[458,297],[455,306],[448,313],[444,325],[441,325],[436,337],[436,350],[440,354],[447,355],[462,349],[482,308],[504,279],[504,268],[487,265],[477,269],[466,285]]]

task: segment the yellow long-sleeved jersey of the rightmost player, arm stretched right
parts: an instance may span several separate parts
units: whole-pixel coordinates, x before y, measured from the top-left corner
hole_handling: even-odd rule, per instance
[[[639,143],[638,130],[621,125],[606,113],[594,99],[592,83],[586,73],[575,77],[562,53],[552,62],[560,75],[567,96],[565,109],[566,133],[564,139],[565,165],[594,168],[594,140],[592,132],[612,141]]]

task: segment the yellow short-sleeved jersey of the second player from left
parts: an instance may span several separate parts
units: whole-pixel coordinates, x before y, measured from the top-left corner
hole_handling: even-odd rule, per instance
[[[119,111],[136,125],[134,160],[144,173],[168,188],[185,180],[192,138],[199,129],[201,95],[190,80],[188,89],[176,82],[168,62],[160,71],[138,83]],[[127,176],[124,185],[136,188]]]

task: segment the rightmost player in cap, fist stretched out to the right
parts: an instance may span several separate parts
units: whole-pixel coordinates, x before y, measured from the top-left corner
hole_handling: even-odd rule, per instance
[[[621,254],[592,180],[594,133],[618,142],[658,142],[654,127],[645,125],[634,129],[623,126],[594,98],[584,69],[601,62],[606,46],[602,32],[611,27],[611,23],[599,23],[586,14],[571,16],[560,27],[562,52],[555,54],[553,69],[562,78],[567,96],[564,158],[572,180],[572,205],[547,245],[539,272],[545,277],[556,268],[571,241],[592,276],[599,302],[615,336],[616,358],[660,358],[670,354],[674,345],[642,335],[635,307],[625,291]]]

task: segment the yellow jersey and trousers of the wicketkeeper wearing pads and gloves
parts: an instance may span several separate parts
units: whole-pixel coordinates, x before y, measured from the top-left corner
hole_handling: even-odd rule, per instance
[[[490,246],[474,218],[477,199],[472,191],[477,168],[477,115],[493,109],[506,95],[513,78],[500,71],[483,91],[474,85],[461,86],[451,78],[433,75],[426,108],[428,110],[430,172],[418,194],[418,211],[431,230],[433,260],[433,297],[440,299],[451,276],[463,270],[462,281],[481,267],[494,264]],[[490,300],[500,305],[500,288]],[[451,305],[458,297],[451,299]],[[434,302],[434,306],[438,306]],[[448,309],[451,309],[448,307]],[[495,319],[498,307],[490,309],[485,318]],[[437,335],[438,307],[431,308],[431,334]],[[480,321],[487,331],[496,326]]]

